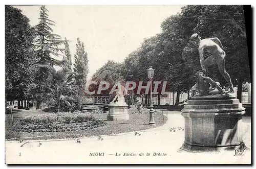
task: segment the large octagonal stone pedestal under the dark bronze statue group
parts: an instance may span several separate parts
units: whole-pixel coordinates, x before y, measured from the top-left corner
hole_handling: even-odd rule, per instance
[[[211,152],[245,148],[240,132],[245,108],[233,94],[194,96],[181,111],[185,118],[181,150]]]

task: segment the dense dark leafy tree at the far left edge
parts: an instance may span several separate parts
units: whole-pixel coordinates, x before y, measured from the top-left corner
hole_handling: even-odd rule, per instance
[[[32,98],[33,29],[22,10],[5,6],[6,100]]]

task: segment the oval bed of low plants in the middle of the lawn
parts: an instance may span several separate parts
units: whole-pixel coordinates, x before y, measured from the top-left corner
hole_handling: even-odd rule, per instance
[[[77,124],[78,123],[78,124]],[[59,112],[37,114],[20,119],[14,126],[20,132],[63,132],[97,128],[106,125],[91,113]]]

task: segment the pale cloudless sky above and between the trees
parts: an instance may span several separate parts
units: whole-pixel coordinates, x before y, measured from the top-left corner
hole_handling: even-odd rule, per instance
[[[39,6],[14,6],[38,23]],[[108,60],[122,62],[138,49],[144,38],[161,32],[161,22],[177,12],[177,5],[48,5],[53,31],[70,40],[72,62],[77,37],[84,42],[89,59],[88,80]]]

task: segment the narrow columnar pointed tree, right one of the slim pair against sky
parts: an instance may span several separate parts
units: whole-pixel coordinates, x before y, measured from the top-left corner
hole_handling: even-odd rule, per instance
[[[77,74],[76,82],[77,85],[82,90],[84,85],[86,85],[87,75],[88,75],[88,56],[84,50],[84,44],[77,38],[76,44],[76,54],[75,54],[74,71]]]

